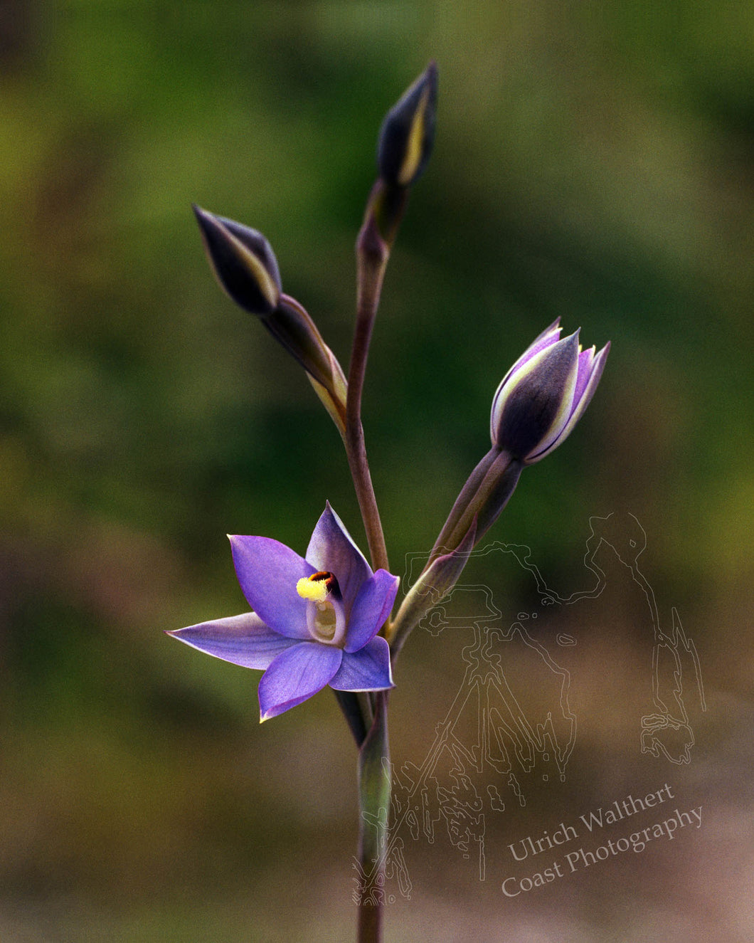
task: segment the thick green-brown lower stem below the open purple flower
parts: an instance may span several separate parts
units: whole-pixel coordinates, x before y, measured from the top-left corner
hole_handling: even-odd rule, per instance
[[[375,695],[375,715],[359,753],[358,943],[380,943],[390,810],[387,691]]]

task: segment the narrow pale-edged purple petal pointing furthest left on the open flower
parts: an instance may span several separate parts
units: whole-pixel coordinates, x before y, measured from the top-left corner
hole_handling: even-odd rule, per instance
[[[262,670],[269,668],[272,659],[281,652],[297,644],[292,638],[272,632],[254,612],[200,622],[167,635],[223,661]]]

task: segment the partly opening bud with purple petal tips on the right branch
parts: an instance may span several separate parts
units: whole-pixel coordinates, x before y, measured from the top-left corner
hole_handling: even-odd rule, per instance
[[[549,455],[579,422],[610,349],[582,351],[578,331],[559,339],[559,321],[518,358],[492,401],[493,446],[527,465]]]

